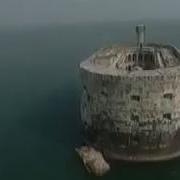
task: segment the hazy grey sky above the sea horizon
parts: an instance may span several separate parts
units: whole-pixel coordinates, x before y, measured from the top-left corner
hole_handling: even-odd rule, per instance
[[[0,0],[0,26],[179,18],[180,0]]]

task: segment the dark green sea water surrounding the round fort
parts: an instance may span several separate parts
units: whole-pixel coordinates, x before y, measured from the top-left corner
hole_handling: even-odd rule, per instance
[[[180,160],[114,165],[90,176],[82,143],[79,63],[100,47],[135,42],[137,22],[0,31],[0,179],[179,179]],[[147,40],[180,47],[180,21],[147,22]]]

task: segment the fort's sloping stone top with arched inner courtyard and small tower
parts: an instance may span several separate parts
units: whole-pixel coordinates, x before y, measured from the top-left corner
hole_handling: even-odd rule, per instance
[[[114,45],[93,54],[82,63],[98,72],[131,73],[140,70],[155,70],[180,65],[180,52],[172,45],[144,44],[145,26],[136,27],[137,46]]]

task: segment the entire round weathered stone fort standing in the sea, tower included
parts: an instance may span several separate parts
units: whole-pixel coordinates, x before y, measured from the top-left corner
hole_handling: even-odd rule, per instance
[[[80,64],[87,144],[105,158],[159,161],[180,155],[180,52],[173,45],[100,49]]]

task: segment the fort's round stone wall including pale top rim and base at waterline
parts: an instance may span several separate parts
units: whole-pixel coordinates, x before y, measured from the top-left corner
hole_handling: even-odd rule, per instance
[[[92,59],[80,65],[87,142],[115,159],[179,156],[180,67],[122,73],[109,59],[105,66]]]

